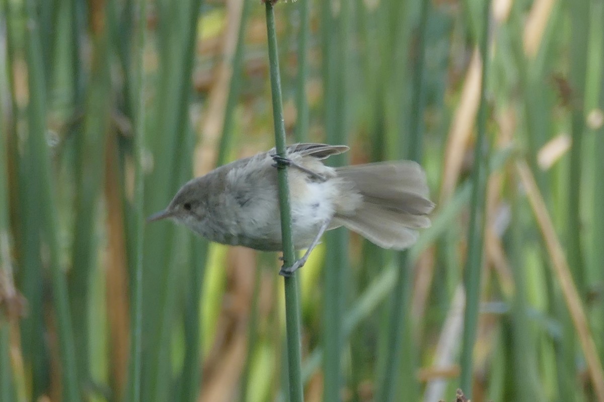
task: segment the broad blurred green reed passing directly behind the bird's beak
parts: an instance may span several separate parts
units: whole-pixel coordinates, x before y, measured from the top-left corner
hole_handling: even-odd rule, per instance
[[[149,138],[153,139],[155,166],[146,177],[146,206],[152,210],[165,207],[166,199],[178,189],[182,177],[190,177],[192,145],[188,140],[188,118],[191,100],[191,72],[201,0],[158,2],[165,19],[159,24],[159,91],[162,96],[156,103],[157,124]],[[153,135],[151,135],[153,134]],[[158,189],[161,187],[161,189]],[[167,223],[165,223],[167,224]],[[165,225],[164,224],[164,225]],[[178,299],[179,274],[175,270],[175,228],[149,227],[146,230],[143,264],[145,267],[143,298],[143,334],[149,331],[144,342],[157,345],[156,353],[146,354],[144,383],[141,398],[145,401],[163,402],[168,398],[172,379],[170,339],[175,322]]]

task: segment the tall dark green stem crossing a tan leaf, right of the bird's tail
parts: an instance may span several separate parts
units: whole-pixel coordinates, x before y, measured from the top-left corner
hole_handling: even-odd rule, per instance
[[[483,240],[485,219],[485,197],[487,175],[489,172],[489,143],[486,124],[488,105],[486,102],[486,84],[489,67],[489,21],[490,1],[483,5],[483,31],[480,36],[480,54],[483,71],[480,87],[480,108],[478,109],[478,133],[474,148],[474,171],[472,172],[472,199],[470,204],[470,224],[464,286],[466,290],[466,311],[463,322],[463,341],[461,345],[460,386],[467,398],[472,395],[472,373],[474,372],[473,352],[478,329],[478,309],[480,306],[480,277],[483,266]]]

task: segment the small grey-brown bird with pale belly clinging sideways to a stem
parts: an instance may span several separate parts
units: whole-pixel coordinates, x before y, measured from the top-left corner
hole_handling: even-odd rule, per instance
[[[255,250],[278,251],[281,223],[277,163],[288,165],[292,230],[297,250],[306,254],[292,267],[304,265],[324,231],[345,226],[383,248],[403,250],[417,240],[417,229],[430,226],[426,176],[416,162],[398,161],[330,168],[330,155],[345,145],[301,143],[286,157],[275,149],[188,181],[169,206],[148,221],[172,218],[214,242]]]

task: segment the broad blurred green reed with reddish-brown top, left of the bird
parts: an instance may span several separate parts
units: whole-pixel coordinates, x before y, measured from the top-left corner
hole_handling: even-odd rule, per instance
[[[111,77],[105,20],[105,1],[90,4],[92,64],[86,94],[83,131],[76,131],[76,220],[73,230],[69,296],[74,327],[78,372],[89,377],[88,311],[90,275],[97,261],[97,207],[103,183],[103,146],[109,126]],[[74,83],[77,84],[77,83]]]

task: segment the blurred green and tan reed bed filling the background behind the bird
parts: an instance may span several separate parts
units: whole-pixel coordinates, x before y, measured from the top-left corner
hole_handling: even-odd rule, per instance
[[[289,142],[421,160],[437,203],[301,269],[307,401],[604,401],[604,2],[487,1],[275,5]],[[0,7],[0,400],[286,400],[277,256],[140,219],[274,146],[260,1]]]

